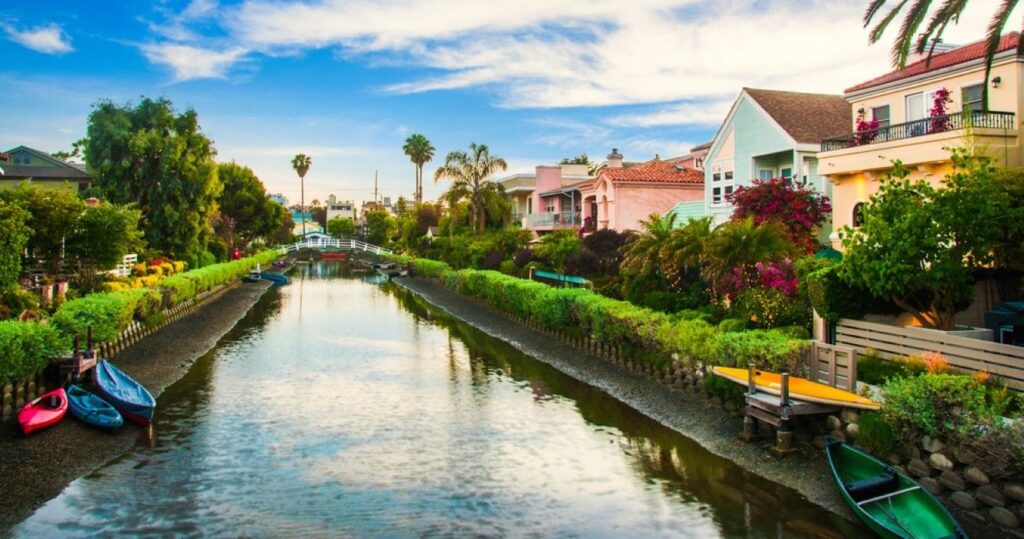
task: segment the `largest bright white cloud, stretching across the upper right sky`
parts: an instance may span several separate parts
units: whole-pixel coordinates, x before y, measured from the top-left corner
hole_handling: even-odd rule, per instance
[[[997,3],[972,2],[947,41],[982,36]],[[427,71],[382,88],[391,93],[480,87],[513,109],[676,103],[623,117],[651,126],[714,123],[721,102],[742,86],[839,93],[888,71],[895,29],[885,43],[868,46],[862,9],[859,2],[835,0],[770,6],[755,0],[633,0],[628,6],[618,0],[244,0],[229,8],[196,0],[178,19],[197,18],[195,12],[205,20],[216,11],[234,47],[217,57],[220,69],[200,66],[189,70],[191,77],[222,76],[247,54],[240,51],[279,55],[328,47],[348,60]]]

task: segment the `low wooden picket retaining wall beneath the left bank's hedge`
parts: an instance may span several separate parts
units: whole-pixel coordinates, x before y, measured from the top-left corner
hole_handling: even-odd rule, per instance
[[[117,340],[112,342],[100,342],[96,345],[96,348],[99,351],[99,357],[102,359],[116,357],[128,346],[131,346],[145,337],[148,337],[167,325],[173,324],[174,322],[196,313],[204,304],[220,297],[224,292],[239,286],[239,284],[240,283],[237,281],[228,285],[221,285],[220,287],[203,292],[202,294],[199,294],[191,299],[187,299],[171,308],[165,308],[160,313],[164,316],[164,320],[161,321],[160,324],[156,324],[153,327],[147,328],[141,322],[132,322],[131,325],[125,328]],[[0,404],[0,420],[7,420],[13,416],[17,410],[20,410],[22,407],[25,406],[25,403],[31,402],[36,397],[45,393],[57,385],[59,384],[53,383],[51,380],[47,380],[42,373],[38,373],[29,379],[20,380],[13,384],[8,383],[3,387],[0,387],[0,403],[2,403]]]

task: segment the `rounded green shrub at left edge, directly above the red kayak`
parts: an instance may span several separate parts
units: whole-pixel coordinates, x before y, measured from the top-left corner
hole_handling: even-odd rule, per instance
[[[0,384],[36,374],[69,347],[68,339],[49,324],[0,322]]]

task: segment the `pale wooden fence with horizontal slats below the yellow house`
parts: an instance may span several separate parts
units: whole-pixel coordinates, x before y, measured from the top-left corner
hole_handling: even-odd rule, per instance
[[[863,350],[871,348],[884,358],[938,353],[954,370],[987,372],[1007,385],[1024,390],[1024,347],[948,335],[923,328],[901,328],[873,322],[841,320],[836,343]]]

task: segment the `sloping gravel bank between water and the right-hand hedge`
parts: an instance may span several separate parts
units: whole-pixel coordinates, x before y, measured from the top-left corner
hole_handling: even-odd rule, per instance
[[[729,459],[771,482],[794,489],[829,511],[855,520],[839,495],[823,452],[813,446],[805,445],[799,454],[790,458],[775,459],[769,455],[767,445],[740,442],[737,434],[742,428],[741,417],[708,400],[701,392],[672,390],[652,383],[649,378],[628,372],[528,328],[435,281],[417,278],[396,278],[393,281],[470,326],[509,342],[522,353],[578,380],[602,389],[638,412],[692,439],[711,453]],[[972,536],[1007,536],[994,526],[972,520],[955,508],[951,510]]]

